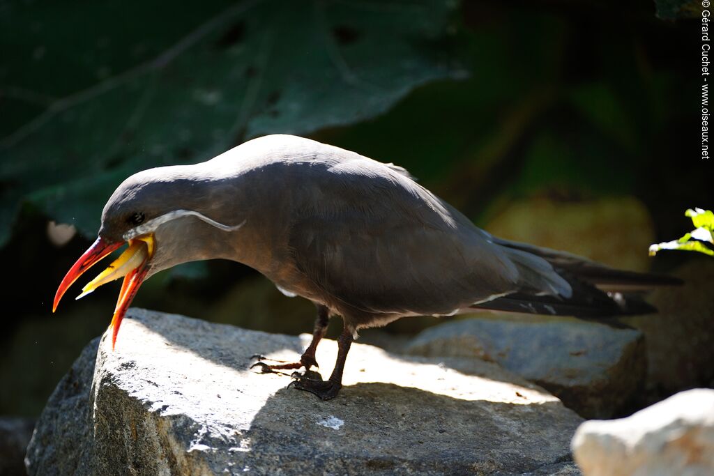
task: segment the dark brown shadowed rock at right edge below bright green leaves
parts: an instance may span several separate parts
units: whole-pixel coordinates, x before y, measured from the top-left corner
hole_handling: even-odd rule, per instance
[[[659,313],[623,319],[645,334],[648,386],[660,395],[714,385],[714,259],[692,259],[673,275],[684,285],[650,297]]]

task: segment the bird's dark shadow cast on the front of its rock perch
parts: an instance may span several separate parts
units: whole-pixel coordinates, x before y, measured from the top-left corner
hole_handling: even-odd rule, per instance
[[[389,383],[356,383],[329,402],[283,389],[243,433],[240,464],[295,474],[528,472],[570,460],[562,411],[560,402],[460,400]]]

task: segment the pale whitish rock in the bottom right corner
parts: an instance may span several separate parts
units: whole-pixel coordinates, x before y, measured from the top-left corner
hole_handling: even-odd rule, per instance
[[[678,393],[620,420],[585,422],[573,453],[588,476],[714,475],[714,390]]]

